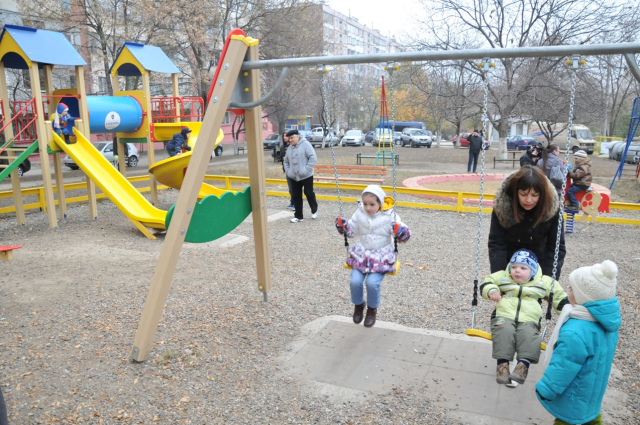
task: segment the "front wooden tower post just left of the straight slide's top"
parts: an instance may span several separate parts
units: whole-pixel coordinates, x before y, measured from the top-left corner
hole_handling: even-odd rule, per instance
[[[51,183],[51,168],[49,165],[49,154],[47,153],[48,140],[47,127],[44,123],[45,114],[42,108],[42,95],[40,94],[40,73],[38,72],[38,63],[32,62],[29,68],[29,77],[31,78],[31,94],[35,101],[35,110],[38,115],[36,119],[36,129],[38,133],[38,147],[40,149],[40,167],[42,168],[42,185],[44,186],[44,200],[47,205],[47,216],[49,218],[49,228],[56,229],[58,227],[58,218],[56,217],[56,204],[53,198],[53,184]]]

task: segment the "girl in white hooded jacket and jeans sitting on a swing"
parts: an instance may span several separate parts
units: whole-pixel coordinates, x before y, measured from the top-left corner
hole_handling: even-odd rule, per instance
[[[353,322],[359,324],[368,304],[364,326],[370,328],[376,323],[376,313],[380,305],[380,283],[385,273],[396,271],[396,250],[393,236],[398,242],[406,242],[411,237],[409,228],[395,213],[393,198],[385,196],[378,185],[369,185],[362,192],[359,207],[347,221],[346,217],[336,218],[338,233],[349,238],[360,236],[360,240],[349,248],[347,264],[351,271],[351,302],[355,305]],[[367,286],[367,302],[364,300],[363,286]]]

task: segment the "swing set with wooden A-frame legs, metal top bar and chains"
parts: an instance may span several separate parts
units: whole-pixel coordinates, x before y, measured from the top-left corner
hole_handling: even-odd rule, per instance
[[[213,150],[215,143],[215,134],[217,134],[225,111],[232,109],[240,113],[244,113],[246,120],[247,150],[249,158],[249,180],[250,180],[250,196],[251,210],[253,213],[253,236],[255,239],[255,255],[257,270],[257,287],[263,293],[264,300],[267,301],[267,295],[272,287],[271,281],[271,254],[269,251],[267,211],[266,211],[266,188],[264,173],[264,157],[262,155],[262,109],[261,105],[266,102],[276,91],[281,88],[288,74],[289,67],[317,67],[322,64],[323,71],[326,66],[331,65],[349,65],[360,63],[385,63],[395,64],[396,62],[412,62],[412,61],[438,61],[438,60],[478,60],[480,58],[522,58],[522,57],[573,57],[574,55],[611,55],[622,54],[625,56],[630,72],[640,82],[640,67],[635,59],[635,54],[640,53],[640,43],[617,43],[604,45],[575,45],[575,46],[538,46],[526,48],[506,48],[506,49],[470,49],[458,51],[421,51],[421,52],[396,52],[396,53],[377,53],[363,55],[348,56],[324,56],[324,57],[303,57],[303,58],[287,58],[287,59],[271,59],[259,60],[258,40],[245,36],[240,30],[233,30],[229,33],[225,47],[222,51],[218,67],[214,79],[211,82],[211,89],[207,99],[207,112],[205,114],[200,137],[203,142],[196,145],[192,160],[187,169],[182,190],[178,195],[175,205],[173,220],[167,231],[162,250],[160,252],[158,263],[154,276],[151,280],[149,294],[145,301],[142,317],[140,318],[138,329],[133,341],[133,348],[130,357],[134,361],[144,361],[148,358],[152,348],[155,333],[158,329],[162,311],[167,299],[171,281],[175,273],[182,244],[185,240],[186,231],[191,221],[194,205],[197,200],[198,189],[204,178],[207,165],[209,162],[210,152]],[[573,61],[572,61],[573,62]],[[483,61],[486,65],[486,61]],[[490,62],[489,62],[490,65]],[[269,93],[261,96],[260,90],[260,69],[265,68],[281,68],[281,75]],[[395,68],[395,65],[391,67]],[[389,66],[387,66],[389,72]],[[326,99],[326,81],[323,72],[323,102],[325,104],[325,114],[328,117],[327,99]],[[393,83],[392,73],[390,73],[391,83],[391,103],[392,103],[392,119],[395,122],[393,107]],[[575,86],[575,72],[573,75]],[[572,89],[572,97],[575,89]],[[487,102],[487,86],[485,79],[485,106],[484,106],[484,122],[486,125],[486,102]],[[572,101],[573,105],[573,101]],[[569,119],[571,119],[570,114]],[[330,122],[329,119],[326,122]],[[393,128],[393,127],[392,127]],[[570,134],[570,132],[567,132]],[[390,148],[393,154],[393,138],[391,138]],[[567,141],[569,143],[569,141]],[[332,150],[332,159],[334,164],[334,173],[337,176],[337,164],[335,153]],[[567,149],[567,152],[569,150]],[[568,155],[568,154],[567,154]],[[384,155],[383,155],[384,160]],[[482,152],[482,177],[481,191],[484,183],[484,161],[485,155]],[[393,200],[396,201],[396,167],[393,161]],[[338,202],[340,208],[340,216],[342,212],[342,199],[340,194],[339,181],[336,177],[336,188],[338,191]],[[563,186],[563,192],[565,187]],[[395,207],[395,205],[394,205]],[[562,215],[562,207],[560,214]],[[477,279],[479,270],[479,244],[482,232],[482,193],[480,198],[480,206],[478,212],[478,239],[476,247],[476,276],[474,283],[474,300],[473,300],[473,316],[472,326],[468,334],[474,336],[483,336],[480,330],[475,328],[475,310],[477,305]],[[394,209],[395,219],[395,209]],[[348,247],[347,241],[345,245]],[[559,235],[556,242],[556,253],[554,264],[557,263]],[[397,248],[396,248],[397,249]],[[399,262],[396,261],[397,266]],[[554,277],[555,277],[554,265]],[[397,269],[396,269],[397,273]],[[393,274],[393,273],[391,273]],[[551,303],[551,301],[550,301]],[[550,310],[547,312],[547,325],[550,319]],[[546,326],[545,326],[546,331]]]

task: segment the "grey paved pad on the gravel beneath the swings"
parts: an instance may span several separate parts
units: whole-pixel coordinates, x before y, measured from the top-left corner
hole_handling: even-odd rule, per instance
[[[450,409],[464,423],[553,423],[535,396],[542,366],[533,365],[523,385],[498,385],[491,342],[483,339],[381,321],[367,329],[329,316],[303,326],[282,360],[286,373],[305,381],[308,391],[336,402],[404,388]]]

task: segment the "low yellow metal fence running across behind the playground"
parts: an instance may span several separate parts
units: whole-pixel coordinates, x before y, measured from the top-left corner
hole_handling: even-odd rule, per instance
[[[144,182],[144,181],[149,181],[149,176],[137,176],[137,177],[130,177],[128,178],[128,180],[131,183],[135,183],[135,182]],[[207,181],[215,181],[215,182],[223,182],[223,185],[218,185],[219,187],[224,187],[227,190],[239,190],[239,188],[234,188],[233,187],[233,183],[243,183],[243,184],[249,184],[249,177],[239,177],[239,176],[218,176],[218,175],[206,175],[205,176],[205,180]],[[286,186],[287,182],[286,180],[283,179],[266,179],[266,184],[267,185],[279,185],[279,186]],[[336,190],[336,185],[335,183],[329,183],[329,182],[314,182],[313,183],[314,187],[316,188],[326,188],[326,189],[333,189]],[[69,183],[69,184],[65,184],[64,185],[64,189],[65,192],[68,192],[70,190],[81,190],[81,189],[86,189],[87,184],[82,182],[82,183]],[[342,196],[342,201],[343,202],[355,202],[357,199],[360,198],[359,194],[362,190],[364,190],[366,187],[366,185],[363,184],[348,184],[348,183],[344,183],[340,185],[340,190],[341,191],[356,191],[358,193],[357,196]],[[387,193],[392,193],[393,192],[393,187],[392,186],[382,186],[382,188],[387,192]],[[167,186],[158,186],[158,189],[168,189]],[[138,188],[138,190],[140,192],[148,192],[150,190],[149,187],[141,187]],[[57,187],[54,186],[53,187],[53,191],[57,192]],[[398,206],[402,206],[402,207],[409,207],[409,208],[422,208],[422,209],[431,209],[431,210],[441,210],[441,211],[455,211],[458,213],[461,212],[469,212],[469,213],[477,213],[478,212],[478,207],[476,205],[471,205],[471,206],[466,206],[464,205],[464,200],[465,199],[480,199],[480,194],[479,193],[473,193],[473,192],[451,192],[451,191],[444,191],[444,190],[430,190],[430,189],[410,189],[410,188],[406,188],[406,187],[397,187],[396,188],[396,192],[398,193],[403,193],[403,194],[407,194],[407,195],[415,195],[415,196],[439,196],[439,197],[448,197],[448,198],[455,198],[456,199],[456,203],[455,205],[448,205],[448,204],[434,204],[434,203],[427,203],[427,201],[429,199],[425,198],[424,201],[419,201],[418,199],[415,202],[408,202],[408,201],[397,201]],[[37,201],[36,202],[32,202],[32,203],[25,203],[24,204],[24,209],[25,210],[30,210],[30,209],[36,209],[39,208],[42,211],[46,211],[46,204],[45,204],[45,200],[44,200],[44,188],[43,187],[34,187],[34,188],[30,188],[30,189],[22,189],[22,197],[24,198],[25,196],[33,196],[35,195],[37,197]],[[288,192],[280,192],[280,191],[273,191],[273,190],[268,190],[267,191],[267,195],[268,196],[278,196],[278,197],[289,197],[289,193]],[[96,194],[96,198],[97,199],[102,199],[102,198],[106,198],[107,195],[105,195],[104,193],[99,193]],[[338,196],[337,195],[325,195],[325,194],[316,194],[316,197],[318,199],[322,199],[322,200],[326,200],[326,201],[338,201]],[[3,191],[0,192],[0,200],[5,199],[5,198],[13,198],[13,192],[12,191]],[[494,195],[492,194],[484,194],[483,195],[483,199],[484,200],[493,200],[494,199]],[[71,204],[71,203],[75,203],[75,202],[86,202],[88,200],[88,197],[85,196],[76,196],[73,198],[66,198],[66,202],[67,204]],[[56,200],[56,205],[58,204],[58,201]],[[622,203],[622,202],[611,202],[609,204],[609,209],[610,210],[623,210],[623,211],[636,211],[636,212],[640,212],[640,204],[630,204],[630,203]],[[8,214],[8,213],[13,213],[15,212],[15,206],[7,206],[7,207],[0,207],[0,214]],[[493,208],[490,207],[483,207],[482,208],[482,212],[485,214],[490,214],[491,211],[493,211]],[[576,220],[579,218],[579,216],[576,216]],[[640,226],[640,219],[632,219],[632,218],[616,218],[616,217],[602,217],[602,216],[598,216],[597,221],[599,223],[613,223],[613,224],[629,224],[629,225],[634,225],[634,226]]]

